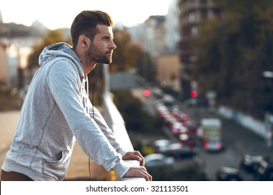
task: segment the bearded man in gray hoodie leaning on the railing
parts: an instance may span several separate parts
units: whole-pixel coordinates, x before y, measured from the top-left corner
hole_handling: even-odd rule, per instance
[[[142,155],[119,146],[85,91],[96,64],[112,62],[112,24],[107,13],[82,11],[71,26],[73,48],[57,43],[40,54],[1,180],[64,180],[75,140],[106,170],[152,180]],[[123,159],[137,159],[140,166]]]

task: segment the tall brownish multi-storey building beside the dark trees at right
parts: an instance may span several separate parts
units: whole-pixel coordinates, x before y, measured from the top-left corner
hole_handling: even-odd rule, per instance
[[[178,0],[179,6],[179,52],[181,61],[181,86],[184,99],[189,99],[193,84],[193,65],[197,59],[191,45],[198,36],[199,27],[205,21],[219,15],[220,10],[214,0]]]

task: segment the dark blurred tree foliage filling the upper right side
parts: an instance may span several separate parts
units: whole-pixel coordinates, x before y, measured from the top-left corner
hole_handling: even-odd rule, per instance
[[[220,18],[206,22],[195,40],[195,77],[219,101],[263,118],[273,112],[273,1],[219,1]]]

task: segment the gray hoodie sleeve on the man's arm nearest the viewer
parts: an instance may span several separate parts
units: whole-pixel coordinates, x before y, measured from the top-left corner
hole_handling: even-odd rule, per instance
[[[54,100],[84,153],[103,165],[106,170],[113,169],[119,176],[124,176],[129,166],[121,159],[121,155],[117,153],[82,104],[84,86],[81,84],[75,65],[66,59],[57,61],[52,65],[47,76]]]

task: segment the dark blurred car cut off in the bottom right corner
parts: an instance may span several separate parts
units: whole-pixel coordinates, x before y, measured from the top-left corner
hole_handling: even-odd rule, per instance
[[[262,160],[258,164],[255,178],[259,181],[273,181],[273,162]]]

